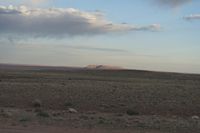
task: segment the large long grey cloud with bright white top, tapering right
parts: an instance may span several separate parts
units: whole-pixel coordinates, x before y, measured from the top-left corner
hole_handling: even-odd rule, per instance
[[[74,8],[0,6],[0,35],[62,37],[159,29],[159,24],[147,26],[116,24],[106,20],[101,12],[86,12]]]

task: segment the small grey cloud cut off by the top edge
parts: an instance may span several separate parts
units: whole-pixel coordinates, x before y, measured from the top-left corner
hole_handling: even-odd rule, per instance
[[[178,7],[180,5],[192,2],[192,0],[154,0],[159,5]]]

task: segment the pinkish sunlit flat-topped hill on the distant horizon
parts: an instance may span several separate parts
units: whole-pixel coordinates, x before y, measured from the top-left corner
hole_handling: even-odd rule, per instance
[[[97,70],[121,70],[122,67],[119,66],[109,66],[109,65],[88,65],[85,69],[97,69]]]

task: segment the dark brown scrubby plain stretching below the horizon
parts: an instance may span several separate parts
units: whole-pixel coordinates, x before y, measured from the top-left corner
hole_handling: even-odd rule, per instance
[[[200,75],[0,66],[0,133],[199,133],[198,116]]]

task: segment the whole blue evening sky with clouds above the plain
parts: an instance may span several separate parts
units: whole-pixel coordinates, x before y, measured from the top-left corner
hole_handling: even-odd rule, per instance
[[[200,73],[199,0],[0,0],[0,63]]]

